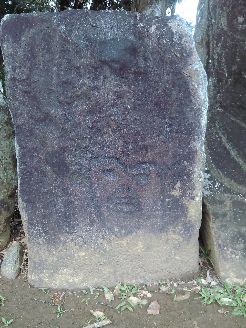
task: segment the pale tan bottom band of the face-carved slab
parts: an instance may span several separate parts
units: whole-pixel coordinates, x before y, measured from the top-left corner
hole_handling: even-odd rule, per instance
[[[70,240],[53,249],[29,244],[28,281],[38,287],[76,289],[84,283],[96,287],[191,278],[198,270],[197,234],[184,240],[172,231],[158,237],[137,233],[99,240],[96,247],[75,246]]]

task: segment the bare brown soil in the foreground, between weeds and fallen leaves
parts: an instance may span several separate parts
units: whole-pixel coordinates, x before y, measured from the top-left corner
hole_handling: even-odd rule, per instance
[[[63,304],[65,310],[62,317],[57,318],[57,306],[50,306],[41,302],[34,301],[33,298],[50,301],[50,297],[38,290],[38,288],[31,287],[27,281],[24,283],[22,278],[16,280],[8,280],[1,278],[0,294],[6,298],[4,307],[1,307],[0,317],[7,320],[13,319],[9,327],[11,328],[34,328],[34,327],[61,327],[61,328],[80,328],[86,324],[86,319],[90,320],[93,316],[90,310],[96,308],[103,308],[107,318],[112,321],[110,328],[245,328],[246,321],[242,317],[232,316],[230,313],[227,317],[219,313],[221,308],[218,304],[203,306],[201,299],[194,299],[194,292],[191,293],[189,299],[182,301],[173,301],[173,296],[165,295],[165,293],[153,292],[153,296],[149,297],[148,304],[151,300],[157,300],[160,305],[159,315],[147,314],[148,304],[143,305],[141,309],[136,305],[134,312],[124,310],[118,314],[115,310],[104,305],[97,305],[96,302],[106,301],[104,295],[94,300],[94,295],[88,294],[82,296],[82,292],[69,295]],[[156,288],[151,286],[151,289]],[[56,291],[50,290],[51,295]],[[90,291],[89,291],[90,293]],[[102,293],[102,292],[99,292]],[[89,298],[88,305],[81,300],[86,297]],[[115,297],[115,300],[110,302],[113,307],[116,307],[120,300]],[[226,307],[224,307],[226,308]],[[92,322],[95,322],[92,319]],[[195,323],[196,322],[196,325]]]

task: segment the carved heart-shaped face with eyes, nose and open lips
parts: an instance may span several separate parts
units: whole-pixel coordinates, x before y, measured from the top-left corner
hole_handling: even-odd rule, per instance
[[[151,163],[131,167],[112,158],[89,168],[94,206],[116,236],[131,234],[162,209],[162,170]]]

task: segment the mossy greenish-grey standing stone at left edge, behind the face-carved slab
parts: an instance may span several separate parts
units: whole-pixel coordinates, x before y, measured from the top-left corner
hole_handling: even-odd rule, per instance
[[[13,122],[0,93],[0,249],[10,238],[9,218],[14,212],[17,189],[16,167]]]

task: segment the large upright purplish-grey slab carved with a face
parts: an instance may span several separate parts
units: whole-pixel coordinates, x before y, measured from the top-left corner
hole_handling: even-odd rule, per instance
[[[1,47],[30,283],[194,273],[207,80],[185,22],[9,15]]]

